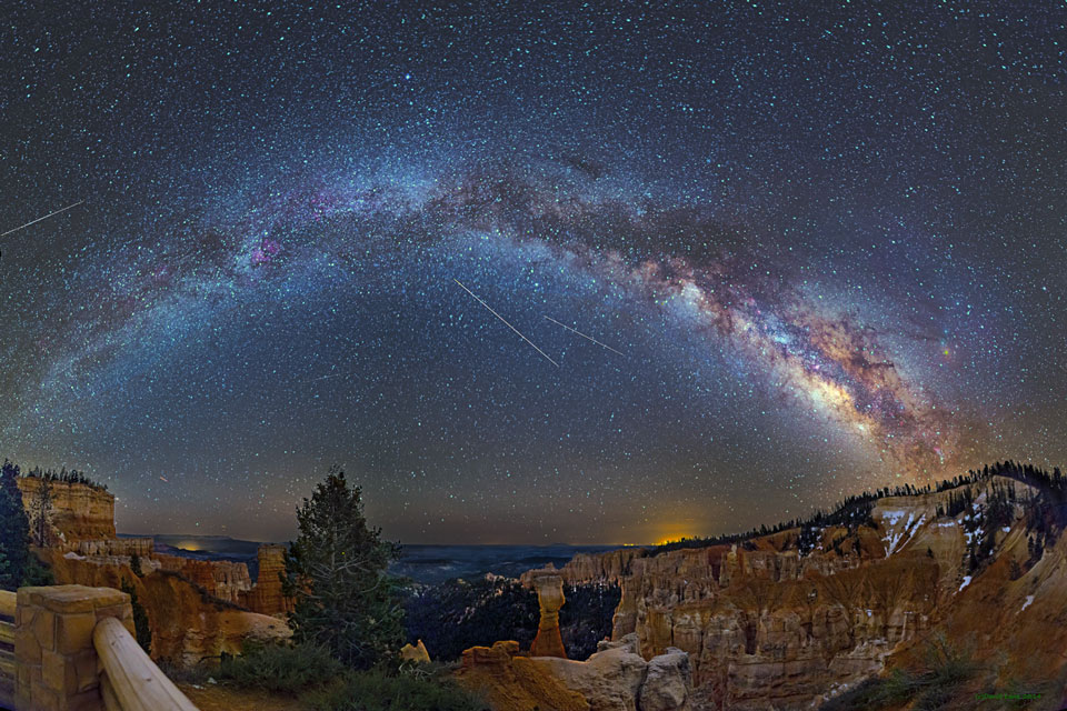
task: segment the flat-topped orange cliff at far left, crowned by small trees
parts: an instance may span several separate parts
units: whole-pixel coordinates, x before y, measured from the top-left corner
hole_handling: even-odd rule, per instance
[[[27,511],[32,508],[41,480],[20,477],[19,491]],[[113,539],[114,497],[88,484],[49,481],[51,487],[53,542],[64,550],[77,550],[80,541]]]

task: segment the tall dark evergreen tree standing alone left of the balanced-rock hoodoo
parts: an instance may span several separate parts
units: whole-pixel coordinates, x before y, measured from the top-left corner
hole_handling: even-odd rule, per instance
[[[330,469],[311,499],[297,509],[300,535],[291,544],[283,580],[296,598],[293,638],[328,647],[356,669],[371,667],[403,643],[403,608],[386,572],[398,547],[367,525],[360,488]]]

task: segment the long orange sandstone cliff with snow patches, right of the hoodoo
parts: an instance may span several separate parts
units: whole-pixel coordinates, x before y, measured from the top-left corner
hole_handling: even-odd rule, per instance
[[[812,539],[804,555],[802,532],[792,529],[744,545],[579,554],[559,574],[568,583],[620,583],[612,639],[636,633],[645,659],[669,648],[688,652],[695,709],[811,708],[918,654],[934,630],[965,639],[991,621],[979,648],[1006,650],[1028,674],[1043,668],[1067,675],[1058,653],[1039,661],[1033,654],[1045,625],[1065,617],[1067,541],[1007,580],[1027,557],[1017,503],[991,533],[993,562],[967,574],[968,541],[981,535],[975,522],[990,488],[1007,484],[993,478],[975,485],[974,504],[953,518],[938,517],[947,491],[879,499],[870,525],[804,532]],[[1019,482],[1014,488],[1020,502],[1035,494]],[[1028,633],[1013,631],[1023,622]],[[1056,635],[1057,649],[1067,649],[1067,632]]]

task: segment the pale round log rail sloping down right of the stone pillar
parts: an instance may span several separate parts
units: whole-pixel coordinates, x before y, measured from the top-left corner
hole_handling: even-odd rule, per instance
[[[197,711],[116,618],[97,622],[100,692],[108,711]]]

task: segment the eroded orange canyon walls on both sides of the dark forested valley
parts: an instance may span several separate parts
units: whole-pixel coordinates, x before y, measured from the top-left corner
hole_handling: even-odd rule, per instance
[[[20,488],[29,505],[34,483]],[[920,669],[940,644],[980,669],[961,687],[969,698],[1024,689],[1058,709],[1067,702],[1067,537],[1050,534],[1045,544],[1039,531],[1061,527],[1043,522],[1040,497],[993,475],[862,500],[847,520],[727,543],[579,553],[521,578],[539,599],[535,649],[522,653],[510,641],[468,649],[456,678],[495,711],[791,711]],[[189,667],[238,652],[247,639],[289,634],[283,547],[259,549],[253,582],[243,563],[117,538],[106,491],[53,482],[53,505],[50,544],[34,553],[58,583],[132,588],[153,658]],[[588,660],[567,659],[562,585],[597,583],[622,590],[611,634]],[[408,655],[422,659],[425,648]]]

